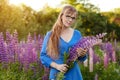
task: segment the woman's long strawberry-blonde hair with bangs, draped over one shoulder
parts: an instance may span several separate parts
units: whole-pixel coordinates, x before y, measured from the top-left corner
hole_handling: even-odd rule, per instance
[[[53,25],[53,28],[51,30],[52,32],[47,45],[47,54],[53,59],[57,59],[59,56],[59,38],[60,38],[61,31],[64,28],[64,25],[62,22],[62,15],[66,12],[75,13],[77,11],[71,5],[64,6],[58,16],[58,19]]]

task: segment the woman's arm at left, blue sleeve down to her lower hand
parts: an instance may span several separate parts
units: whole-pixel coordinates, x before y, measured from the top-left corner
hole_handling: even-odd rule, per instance
[[[47,42],[48,42],[49,36],[50,36],[50,32],[48,32],[44,38],[44,41],[42,44],[42,49],[40,52],[40,60],[41,60],[42,64],[45,65],[46,67],[52,67],[61,72],[66,72],[67,67],[68,67],[66,64],[57,64],[56,62],[54,62],[54,60],[52,58],[50,58],[47,55],[46,47],[47,47]]]

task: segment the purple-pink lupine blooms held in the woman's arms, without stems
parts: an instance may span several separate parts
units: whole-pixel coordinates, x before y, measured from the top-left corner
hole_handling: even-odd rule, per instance
[[[81,40],[78,41],[78,43],[76,43],[73,47],[70,48],[69,61],[73,61],[77,57],[77,48],[81,47],[83,49],[89,49],[90,47],[96,45],[96,43],[99,43],[101,41],[100,38],[104,37],[105,35],[106,33],[102,33],[98,34],[96,37],[83,37]]]

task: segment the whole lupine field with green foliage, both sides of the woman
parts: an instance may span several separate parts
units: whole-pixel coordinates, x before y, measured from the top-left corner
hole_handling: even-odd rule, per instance
[[[18,33],[0,33],[0,80],[47,80],[49,69],[39,60],[43,36],[28,35],[18,40]],[[120,50],[116,41],[103,42],[88,51],[80,68],[84,80],[120,80]]]

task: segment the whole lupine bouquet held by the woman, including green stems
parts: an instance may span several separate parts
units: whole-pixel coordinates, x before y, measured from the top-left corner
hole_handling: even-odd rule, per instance
[[[83,37],[76,43],[74,46],[72,46],[69,50],[69,55],[65,54],[64,55],[64,62],[69,66],[68,70],[73,67],[74,61],[78,58],[78,53],[77,53],[77,48],[83,48],[83,49],[89,49],[98,43],[100,43],[103,38],[107,33],[101,33],[96,36],[88,36],[88,37]],[[59,72],[57,74],[56,80],[62,80],[64,78],[64,73]]]

